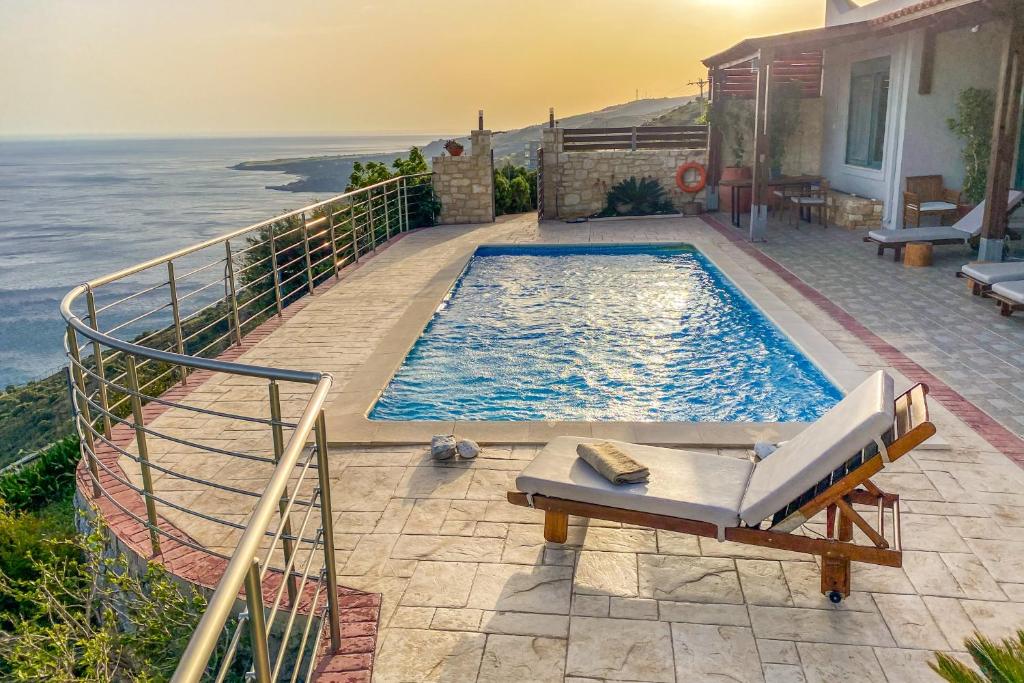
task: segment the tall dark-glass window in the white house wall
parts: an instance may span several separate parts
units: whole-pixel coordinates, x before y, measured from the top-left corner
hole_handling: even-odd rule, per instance
[[[846,163],[882,168],[889,106],[889,57],[867,59],[850,71],[850,116],[846,131]]]

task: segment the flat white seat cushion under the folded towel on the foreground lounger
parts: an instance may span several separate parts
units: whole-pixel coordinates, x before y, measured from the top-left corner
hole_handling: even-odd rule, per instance
[[[695,519],[720,527],[739,523],[739,501],[754,469],[749,460],[611,441],[650,469],[647,483],[616,486],[577,457],[579,443],[602,440],[607,439],[556,438],[516,478],[516,487],[526,494]]]

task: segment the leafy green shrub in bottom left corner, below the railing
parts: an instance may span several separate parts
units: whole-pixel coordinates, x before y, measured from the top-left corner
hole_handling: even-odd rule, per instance
[[[19,681],[166,681],[206,607],[157,564],[142,577],[103,535],[61,542],[32,578],[0,574],[0,591],[33,605],[0,633],[0,676]],[[231,630],[228,627],[228,632]],[[223,654],[221,640],[214,659]],[[241,672],[232,672],[239,680]]]

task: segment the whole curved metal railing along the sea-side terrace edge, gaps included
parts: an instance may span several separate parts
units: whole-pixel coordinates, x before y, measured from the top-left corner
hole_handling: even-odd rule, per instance
[[[225,561],[174,681],[308,680],[321,632],[338,648],[323,412],[332,378],[218,356],[395,236],[432,224],[432,193],[429,174],[385,180],[97,278],[63,298],[91,483],[83,495],[147,529],[158,560],[165,548],[183,548]],[[189,531],[194,520],[215,529],[205,543]],[[234,537],[233,548],[213,543]],[[236,616],[243,589],[246,608]]]

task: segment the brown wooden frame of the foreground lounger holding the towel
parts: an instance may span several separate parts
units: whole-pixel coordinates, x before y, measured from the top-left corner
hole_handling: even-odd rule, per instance
[[[918,384],[896,399],[896,419],[892,430],[884,438],[890,462],[906,455],[935,434],[935,426],[929,420],[927,394],[928,386]],[[893,567],[901,566],[903,563],[899,496],[885,493],[870,480],[870,477],[880,472],[885,465],[882,455],[876,449],[872,456],[865,457],[854,469],[827,485],[820,494],[812,496],[798,510],[787,514],[769,528],[729,527],[725,529],[725,540],[749,546],[820,555],[821,592],[833,602],[839,602],[850,594],[851,561]],[[817,486],[812,490],[817,490]],[[551,543],[565,543],[568,538],[569,515],[690,533],[708,539],[719,538],[717,525],[693,519],[540,495],[527,496],[522,492],[509,492],[508,501],[513,505],[544,510],[544,538]],[[871,506],[877,509],[876,526],[872,527],[861,516],[854,508],[855,505]],[[793,532],[822,510],[825,511],[824,538]],[[886,510],[892,511],[891,541],[886,538]],[[871,545],[853,543],[854,526],[863,531]]]

